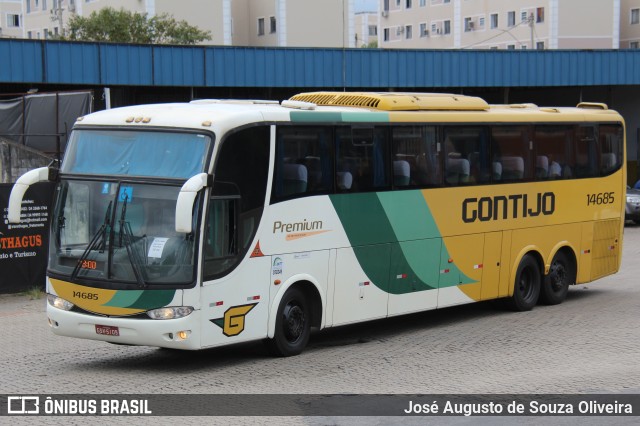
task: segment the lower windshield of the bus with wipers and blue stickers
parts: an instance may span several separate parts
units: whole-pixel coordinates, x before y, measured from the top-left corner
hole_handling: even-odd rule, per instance
[[[50,272],[139,287],[194,281],[195,239],[175,231],[180,186],[63,180],[57,191]]]

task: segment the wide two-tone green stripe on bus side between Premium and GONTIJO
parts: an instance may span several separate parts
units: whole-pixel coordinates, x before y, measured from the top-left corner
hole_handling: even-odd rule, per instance
[[[329,196],[360,267],[383,291],[405,294],[473,283],[455,264],[420,191]]]

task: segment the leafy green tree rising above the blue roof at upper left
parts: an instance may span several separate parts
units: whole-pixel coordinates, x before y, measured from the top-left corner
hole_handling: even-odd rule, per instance
[[[62,40],[105,41],[112,43],[196,44],[210,40],[211,33],[176,21],[164,13],[151,18],[147,14],[105,7],[88,17],[74,15]]]

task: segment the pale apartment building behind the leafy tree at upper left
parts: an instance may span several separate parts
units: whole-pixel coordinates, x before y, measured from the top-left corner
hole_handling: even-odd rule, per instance
[[[210,31],[212,45],[355,47],[357,40],[353,0],[0,0],[0,37],[52,38],[73,14],[104,7],[168,13]],[[377,14],[367,19],[377,25]]]

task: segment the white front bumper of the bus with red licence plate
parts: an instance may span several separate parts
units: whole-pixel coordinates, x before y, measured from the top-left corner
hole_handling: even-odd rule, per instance
[[[201,347],[199,310],[183,318],[153,320],[101,317],[65,311],[47,304],[47,318],[53,332],[60,336],[172,349],[194,350]]]

